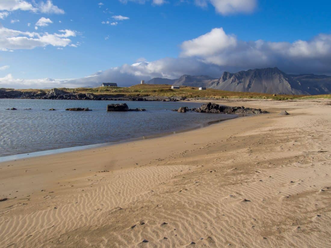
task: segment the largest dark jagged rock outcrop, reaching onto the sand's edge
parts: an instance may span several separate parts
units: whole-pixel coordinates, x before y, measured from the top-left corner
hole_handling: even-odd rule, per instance
[[[199,113],[236,113],[236,114],[267,113],[267,111],[261,110],[260,108],[246,108],[244,106],[230,107],[230,106],[219,105],[216,103],[205,103],[200,108],[188,109],[187,107],[180,107],[179,109],[173,109],[173,111],[182,112],[182,109],[185,109],[185,110],[191,111],[191,112],[199,112]]]

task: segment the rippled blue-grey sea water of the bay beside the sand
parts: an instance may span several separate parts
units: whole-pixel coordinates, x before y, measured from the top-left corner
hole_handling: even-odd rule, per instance
[[[121,101],[0,99],[0,157],[56,148],[117,142],[196,128],[235,115],[177,113],[181,106],[201,103],[126,102],[143,112],[107,112],[107,104]],[[6,110],[15,107],[17,110]],[[88,107],[93,111],[65,111]],[[31,110],[24,110],[31,108]],[[56,111],[49,111],[55,108]]]

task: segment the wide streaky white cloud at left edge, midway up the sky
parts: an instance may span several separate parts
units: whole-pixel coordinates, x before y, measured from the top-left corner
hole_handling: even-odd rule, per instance
[[[59,32],[54,34],[22,32],[2,27],[0,28],[0,50],[33,49],[48,45],[66,47],[71,44],[68,37],[76,35],[76,32],[71,30],[59,30]]]

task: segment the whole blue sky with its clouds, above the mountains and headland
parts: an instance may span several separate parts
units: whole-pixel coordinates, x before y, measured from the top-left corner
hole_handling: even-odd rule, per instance
[[[330,7],[323,0],[3,0],[0,87],[132,85],[268,66],[331,74]],[[143,61],[151,63],[131,66]]]

